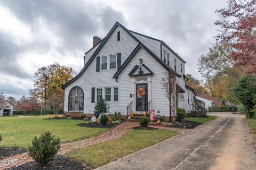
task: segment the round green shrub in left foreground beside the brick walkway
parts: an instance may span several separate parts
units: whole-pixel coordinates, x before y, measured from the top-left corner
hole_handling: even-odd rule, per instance
[[[39,165],[44,166],[53,160],[59,149],[60,139],[48,131],[32,140],[32,145],[28,147],[28,153]]]

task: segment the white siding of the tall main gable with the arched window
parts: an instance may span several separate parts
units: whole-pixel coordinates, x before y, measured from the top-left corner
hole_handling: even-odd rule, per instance
[[[121,41],[117,41],[117,31],[121,31]],[[137,41],[121,27],[117,27],[97,56],[122,53],[121,61],[124,63],[137,45]],[[95,103],[91,103],[91,88],[118,87],[118,82],[112,78],[116,71],[117,70],[107,70],[96,72],[96,58],[94,58],[83,75],[65,88],[64,111],[68,111],[68,95],[70,89],[74,86],[79,86],[84,91],[84,113],[93,113]],[[110,104],[110,112],[118,111],[117,102],[108,103]]]

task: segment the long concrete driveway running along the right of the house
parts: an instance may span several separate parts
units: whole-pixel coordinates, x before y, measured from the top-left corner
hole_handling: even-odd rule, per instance
[[[98,169],[256,169],[244,116],[216,115],[212,122]]]

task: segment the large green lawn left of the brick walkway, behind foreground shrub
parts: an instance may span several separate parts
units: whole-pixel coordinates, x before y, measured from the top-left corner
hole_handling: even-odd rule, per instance
[[[61,142],[68,142],[92,137],[107,130],[77,126],[78,123],[85,123],[82,120],[43,120],[52,116],[0,117],[0,134],[3,137],[0,147],[27,148],[35,135],[44,131],[51,131]]]

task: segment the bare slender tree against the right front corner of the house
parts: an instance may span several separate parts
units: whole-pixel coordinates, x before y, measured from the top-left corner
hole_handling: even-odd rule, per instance
[[[177,119],[177,108],[178,108],[178,97],[180,92],[180,87],[178,86],[179,80],[174,72],[166,72],[165,77],[162,78],[163,89],[166,92],[166,97],[169,100],[169,105],[171,108],[170,118],[173,123]]]

